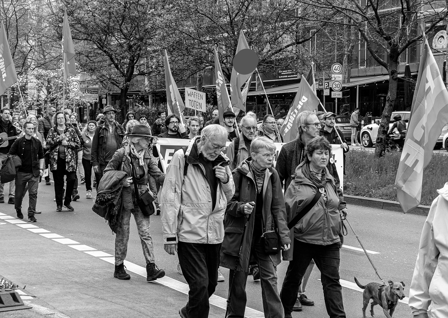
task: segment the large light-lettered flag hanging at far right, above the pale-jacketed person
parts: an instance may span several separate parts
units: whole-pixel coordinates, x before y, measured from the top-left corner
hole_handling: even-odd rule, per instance
[[[395,179],[397,199],[405,213],[420,204],[423,169],[431,161],[435,143],[448,123],[448,91],[424,34],[423,39],[417,85]]]

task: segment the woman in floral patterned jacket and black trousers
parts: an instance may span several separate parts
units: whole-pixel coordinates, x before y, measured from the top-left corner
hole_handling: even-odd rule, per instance
[[[59,111],[54,116],[54,127],[48,131],[47,148],[50,152],[50,170],[55,183],[56,211],[62,211],[64,195],[64,176],[66,175],[66,193],[73,192],[78,161],[78,148],[81,141],[76,131],[65,125],[65,115]],[[64,207],[69,211],[75,209],[70,204],[71,195],[65,195]]]

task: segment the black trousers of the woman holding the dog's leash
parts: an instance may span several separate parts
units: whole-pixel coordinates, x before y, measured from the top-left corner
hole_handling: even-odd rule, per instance
[[[289,262],[280,298],[284,312],[291,313],[306,268],[314,259],[320,271],[325,307],[330,318],[345,318],[342,287],[339,283],[340,242],[331,245],[309,244],[294,239],[293,260]]]

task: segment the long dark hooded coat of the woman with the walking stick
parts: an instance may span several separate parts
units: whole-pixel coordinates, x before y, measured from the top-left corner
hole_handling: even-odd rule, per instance
[[[238,255],[241,236],[246,222],[244,205],[247,202],[257,201],[257,191],[254,177],[249,169],[249,161],[245,160],[237,169],[233,170],[233,181],[235,182],[235,194],[227,203],[224,218],[224,241],[221,247],[221,266],[234,269],[236,256]],[[271,177],[272,176],[272,177]],[[271,182],[272,180],[272,182]],[[240,186],[241,185],[241,186]],[[255,213],[255,208],[252,214]],[[255,217],[250,216],[244,233],[241,248],[240,261],[237,271],[247,271],[250,262],[250,249],[254,233]],[[286,209],[280,178],[275,169],[267,169],[264,174],[263,183],[263,225],[262,233],[273,229],[280,236],[281,245],[291,242],[289,229],[286,223]],[[281,262],[280,250],[275,255],[269,255],[272,263],[278,265]]]

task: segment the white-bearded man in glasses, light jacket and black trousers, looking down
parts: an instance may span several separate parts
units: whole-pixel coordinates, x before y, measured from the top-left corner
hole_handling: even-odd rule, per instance
[[[235,184],[230,161],[222,153],[227,131],[208,125],[188,147],[178,150],[168,166],[160,199],[164,247],[177,251],[190,286],[183,318],[207,318],[208,298],[218,284],[224,212]]]

